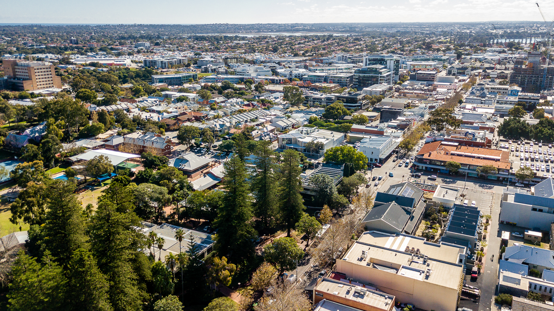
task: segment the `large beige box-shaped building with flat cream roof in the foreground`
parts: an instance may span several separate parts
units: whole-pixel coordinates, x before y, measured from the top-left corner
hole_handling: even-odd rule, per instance
[[[465,277],[460,246],[422,237],[366,231],[336,262],[346,278],[369,284],[424,310],[456,309]]]

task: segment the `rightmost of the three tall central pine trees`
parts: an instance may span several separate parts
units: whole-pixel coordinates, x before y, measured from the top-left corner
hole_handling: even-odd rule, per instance
[[[286,149],[281,153],[281,165],[279,167],[279,216],[286,227],[287,236],[290,230],[302,216],[305,209],[300,191],[302,180],[300,178],[300,155],[293,149]]]

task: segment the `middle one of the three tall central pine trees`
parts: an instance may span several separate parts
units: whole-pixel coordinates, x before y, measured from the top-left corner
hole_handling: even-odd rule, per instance
[[[254,215],[261,220],[264,227],[273,226],[273,219],[278,211],[275,152],[270,146],[271,142],[260,141],[254,152]]]

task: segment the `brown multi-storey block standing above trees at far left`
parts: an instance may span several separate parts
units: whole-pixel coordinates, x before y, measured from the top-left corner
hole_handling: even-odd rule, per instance
[[[4,59],[4,75],[13,89],[39,90],[56,87],[61,89],[61,78],[56,75],[54,65],[47,61],[22,61]]]

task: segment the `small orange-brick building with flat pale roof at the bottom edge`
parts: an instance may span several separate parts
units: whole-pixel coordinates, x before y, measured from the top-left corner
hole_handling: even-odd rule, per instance
[[[378,292],[365,284],[351,284],[346,279],[338,281],[327,277],[315,278],[305,290],[316,304],[315,310],[319,311],[394,310],[394,296]]]

